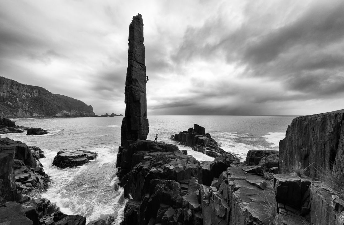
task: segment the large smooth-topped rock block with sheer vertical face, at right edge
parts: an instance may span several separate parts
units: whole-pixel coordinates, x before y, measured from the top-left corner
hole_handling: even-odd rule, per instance
[[[338,110],[295,118],[286,138],[280,141],[280,172],[291,172],[299,160],[304,168],[308,167],[305,174],[312,178],[317,177],[319,168],[333,168],[344,182],[343,114],[344,110]]]

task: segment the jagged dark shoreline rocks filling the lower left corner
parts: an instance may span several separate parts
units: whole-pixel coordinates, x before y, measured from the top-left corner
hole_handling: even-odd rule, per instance
[[[0,138],[0,223],[85,225],[83,216],[63,214],[47,199],[23,195],[47,188],[46,175],[39,162],[43,157],[44,152],[38,147]]]

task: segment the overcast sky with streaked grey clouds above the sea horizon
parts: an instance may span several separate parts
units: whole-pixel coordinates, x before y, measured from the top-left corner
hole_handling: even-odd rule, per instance
[[[0,76],[124,114],[142,14],[148,117],[344,108],[344,1],[0,0]]]

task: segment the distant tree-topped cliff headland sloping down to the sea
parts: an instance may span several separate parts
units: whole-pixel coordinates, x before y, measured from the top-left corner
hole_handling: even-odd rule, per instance
[[[0,76],[0,115],[2,117],[93,116],[84,102],[42,87],[24,85]]]

